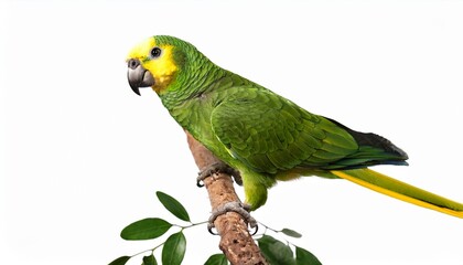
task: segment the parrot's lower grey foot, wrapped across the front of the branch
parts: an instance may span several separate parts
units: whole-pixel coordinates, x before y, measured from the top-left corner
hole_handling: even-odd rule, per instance
[[[243,216],[243,219],[248,223],[249,227],[255,229],[252,235],[255,235],[259,229],[257,225],[256,219],[254,219],[250,213],[250,205],[240,203],[240,202],[227,202],[220,206],[218,206],[213,213],[211,214],[211,218],[207,223],[207,230],[211,234],[215,234],[212,230],[215,227],[214,221],[222,214],[225,214],[227,212],[236,212]]]

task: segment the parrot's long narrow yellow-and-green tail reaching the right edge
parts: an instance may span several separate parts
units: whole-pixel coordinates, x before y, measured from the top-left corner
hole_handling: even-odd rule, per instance
[[[331,173],[379,193],[463,219],[463,204],[407,184],[370,169],[332,170]]]

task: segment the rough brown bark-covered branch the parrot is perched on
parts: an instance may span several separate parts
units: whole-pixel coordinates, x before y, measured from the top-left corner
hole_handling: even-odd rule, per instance
[[[190,150],[200,170],[219,161],[189,132],[186,132],[186,136]],[[216,173],[206,178],[204,186],[207,189],[213,211],[227,202],[239,202],[232,177],[228,174]],[[259,247],[249,234],[248,226],[241,215],[235,212],[227,212],[226,214],[219,215],[214,224],[220,236],[219,248],[232,264],[267,264]]]

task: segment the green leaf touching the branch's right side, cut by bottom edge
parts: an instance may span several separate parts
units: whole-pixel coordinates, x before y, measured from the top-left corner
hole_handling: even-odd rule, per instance
[[[270,235],[262,235],[259,240],[259,248],[270,264],[295,264],[294,255],[287,244],[273,239]]]

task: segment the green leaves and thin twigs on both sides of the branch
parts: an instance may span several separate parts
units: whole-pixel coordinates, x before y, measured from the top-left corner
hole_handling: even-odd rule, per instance
[[[158,261],[154,257],[154,251],[162,247],[161,264],[165,265],[181,265],[186,252],[186,237],[183,230],[193,227],[206,222],[192,223],[186,209],[173,197],[158,191],[158,200],[162,205],[177,219],[189,222],[190,225],[181,226],[172,224],[160,218],[147,218],[133,222],[127,225],[120,233],[120,236],[127,241],[146,241],[154,240],[165,234],[172,226],[177,226],[181,230],[176,233],[171,234],[165,242],[157,245],[155,247],[140,252],[131,256],[120,256],[114,259],[109,265],[125,265],[130,258],[144,254],[142,257],[142,265],[158,265]],[[263,225],[263,224],[261,224]],[[276,231],[267,225],[263,225],[266,231],[260,236],[256,237],[260,251],[268,261],[269,264],[288,264],[288,265],[321,265],[320,261],[309,251],[290,244],[289,242],[283,243],[277,239],[266,234],[268,230],[274,233],[282,233],[291,237],[301,237],[302,235],[293,230],[283,229]],[[292,246],[292,247],[291,247]],[[294,248],[294,252],[292,251]],[[146,254],[148,253],[148,254]],[[211,255],[205,265],[227,265],[229,264],[224,254]]]

